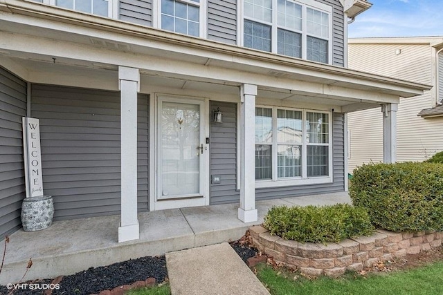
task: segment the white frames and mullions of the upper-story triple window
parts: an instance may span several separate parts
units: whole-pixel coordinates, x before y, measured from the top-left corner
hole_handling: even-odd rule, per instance
[[[244,0],[239,0],[237,1],[237,46],[242,46],[244,47],[244,19],[247,19],[249,21],[254,21],[256,23],[262,23],[266,26],[271,26],[271,53],[275,53],[277,54],[277,47],[278,47],[278,41],[277,41],[277,34],[278,34],[278,24],[277,24],[277,9],[275,9],[276,5],[277,5],[277,1],[278,0],[272,0],[272,23],[269,23],[267,21],[260,21],[257,19],[253,19],[251,17],[246,17],[244,16],[243,13],[243,7],[244,7]],[[306,40],[307,40],[307,28],[306,28],[306,21],[307,21],[307,7],[309,8],[314,8],[316,10],[322,10],[323,12],[326,12],[329,15],[329,38],[327,39],[327,64],[332,64],[332,58],[333,58],[333,54],[332,54],[332,44],[333,42],[333,9],[332,6],[328,6],[324,3],[319,3],[317,1],[314,0],[304,0],[304,1],[293,1],[293,0],[288,0],[291,1],[293,3],[297,3],[299,5],[302,6],[302,59],[307,59],[307,44],[306,44]],[[284,29],[287,30],[287,29]],[[295,30],[293,30],[293,32],[296,32]],[[314,35],[312,35],[312,37],[318,38],[318,39],[323,39],[325,40],[325,38],[322,37],[316,37]]]

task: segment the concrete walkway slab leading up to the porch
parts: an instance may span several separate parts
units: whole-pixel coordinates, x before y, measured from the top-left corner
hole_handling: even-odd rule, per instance
[[[172,295],[269,295],[227,242],[166,254]]]

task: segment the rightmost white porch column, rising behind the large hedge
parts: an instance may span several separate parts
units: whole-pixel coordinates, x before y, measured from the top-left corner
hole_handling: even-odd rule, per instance
[[[383,104],[383,163],[397,160],[397,110],[398,104]]]

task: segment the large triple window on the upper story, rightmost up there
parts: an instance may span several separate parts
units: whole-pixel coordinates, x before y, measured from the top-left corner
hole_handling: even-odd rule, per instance
[[[305,2],[244,0],[243,46],[329,63],[332,8]]]

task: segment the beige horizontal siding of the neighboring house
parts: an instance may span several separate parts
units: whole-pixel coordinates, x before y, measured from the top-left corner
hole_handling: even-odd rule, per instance
[[[396,55],[396,50],[401,50]],[[433,84],[432,50],[426,44],[350,44],[349,67],[413,82]],[[400,99],[397,113],[397,161],[421,161],[443,150],[443,117],[424,119],[417,113],[433,105],[431,91]],[[383,117],[380,108],[348,115],[349,171],[383,160]]]

